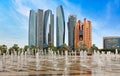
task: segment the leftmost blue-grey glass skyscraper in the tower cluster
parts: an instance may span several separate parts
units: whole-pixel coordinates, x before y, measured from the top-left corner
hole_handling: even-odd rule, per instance
[[[36,13],[30,10],[29,15],[29,46],[36,46]]]

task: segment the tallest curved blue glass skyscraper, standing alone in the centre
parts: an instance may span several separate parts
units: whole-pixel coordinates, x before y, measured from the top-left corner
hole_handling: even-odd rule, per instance
[[[60,5],[56,10],[56,46],[61,47],[65,42],[65,18],[63,7]]]

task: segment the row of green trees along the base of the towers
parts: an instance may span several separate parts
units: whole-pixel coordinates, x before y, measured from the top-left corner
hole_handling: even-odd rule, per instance
[[[48,48],[50,48],[53,51],[57,51],[57,50],[59,50],[59,51],[66,51],[66,50],[67,51],[71,51],[71,50],[81,51],[81,50],[83,50],[84,51],[84,50],[86,50],[86,51],[92,53],[94,50],[96,50],[96,51],[99,50],[100,52],[101,51],[105,51],[105,52],[111,51],[113,53],[115,52],[115,48],[99,49],[95,44],[93,44],[91,46],[91,48],[87,48],[86,44],[84,44],[84,43],[80,43],[80,46],[78,46],[78,47],[76,47],[74,49],[71,49],[66,44],[63,44],[60,48],[57,48],[52,43],[49,43],[48,47],[44,48],[44,49],[48,50]],[[37,46],[31,46],[31,47],[29,47],[28,45],[25,45],[23,48],[20,48],[18,46],[18,44],[14,44],[12,47],[8,48],[7,45],[0,45],[0,54],[3,55],[3,53],[6,53],[6,52],[8,52],[9,54],[11,54],[11,53],[14,53],[14,51],[16,51],[17,54],[18,54],[18,52],[22,52],[22,51],[25,52],[28,49],[30,49],[30,51],[33,52],[33,54],[35,54],[37,52],[37,49],[41,50],[41,49],[43,49],[43,47],[41,47],[41,46],[39,46],[39,47],[37,47]],[[118,52],[119,51],[120,51],[120,49],[118,49]]]

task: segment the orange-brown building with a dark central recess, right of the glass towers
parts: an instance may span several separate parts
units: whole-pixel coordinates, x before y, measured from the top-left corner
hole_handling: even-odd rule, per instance
[[[85,44],[87,48],[91,47],[92,44],[92,28],[91,22],[86,18],[84,19],[84,23],[80,20],[75,25],[74,29],[74,48],[79,47],[80,44]]]

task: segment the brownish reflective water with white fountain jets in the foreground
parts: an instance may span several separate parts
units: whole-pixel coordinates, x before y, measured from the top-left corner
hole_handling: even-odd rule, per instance
[[[30,50],[29,50],[30,51]],[[28,50],[18,55],[0,55],[0,75],[88,75],[88,76],[117,76],[120,74],[120,55],[111,52],[94,51],[87,56],[87,51],[71,52],[38,50],[31,55]]]

